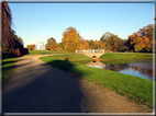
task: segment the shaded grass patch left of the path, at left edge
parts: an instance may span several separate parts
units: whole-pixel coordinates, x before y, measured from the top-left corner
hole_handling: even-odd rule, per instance
[[[15,68],[15,58],[2,60],[2,84],[7,84]]]

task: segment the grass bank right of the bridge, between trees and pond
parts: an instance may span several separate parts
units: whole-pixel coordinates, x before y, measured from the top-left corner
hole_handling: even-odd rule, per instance
[[[153,54],[103,54],[100,59],[124,59],[124,60],[134,60],[134,59],[153,59]]]

